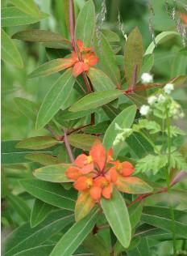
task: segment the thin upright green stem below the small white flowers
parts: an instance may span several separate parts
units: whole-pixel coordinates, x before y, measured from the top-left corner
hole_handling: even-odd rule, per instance
[[[171,130],[170,130],[170,118],[168,117],[168,109],[166,106],[166,124],[167,124],[167,130],[168,130],[168,168],[165,169],[165,178],[166,183],[168,186],[168,194],[169,198],[171,199],[171,184],[170,184],[170,163],[171,163]],[[172,219],[172,246],[173,246],[173,256],[177,256],[177,246],[176,246],[176,234],[175,234],[175,215],[173,211],[172,202],[170,201],[170,215]]]

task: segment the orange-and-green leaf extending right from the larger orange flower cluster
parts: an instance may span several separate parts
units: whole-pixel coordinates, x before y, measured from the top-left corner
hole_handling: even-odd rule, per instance
[[[118,176],[116,187],[119,191],[128,194],[144,194],[152,192],[152,187],[139,177],[122,177]]]

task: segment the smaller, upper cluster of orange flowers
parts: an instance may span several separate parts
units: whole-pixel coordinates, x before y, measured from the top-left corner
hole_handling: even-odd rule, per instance
[[[89,66],[98,63],[98,57],[92,52],[93,47],[85,47],[81,40],[77,40],[77,52],[71,54],[71,58],[64,58],[64,66],[73,66],[73,76],[77,77],[81,73],[88,71]]]

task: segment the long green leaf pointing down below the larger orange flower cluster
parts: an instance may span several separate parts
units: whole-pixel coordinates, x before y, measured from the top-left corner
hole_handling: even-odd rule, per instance
[[[131,224],[123,196],[114,188],[112,197],[102,198],[101,204],[115,236],[127,248],[131,241]]]

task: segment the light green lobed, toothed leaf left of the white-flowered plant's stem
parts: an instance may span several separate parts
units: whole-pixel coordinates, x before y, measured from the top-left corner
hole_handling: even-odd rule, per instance
[[[137,164],[135,165],[135,170],[137,173],[152,171],[154,174],[156,174],[167,163],[168,163],[167,156],[148,155],[138,160]]]

